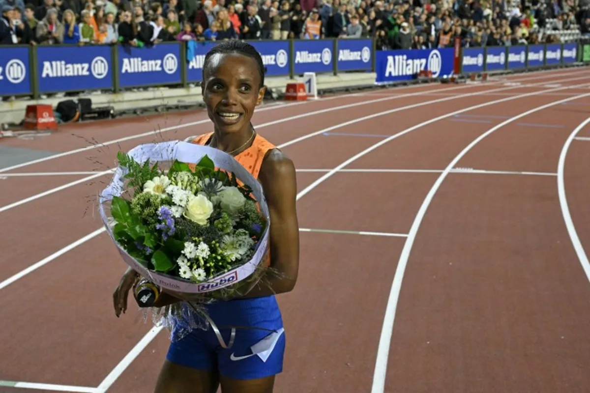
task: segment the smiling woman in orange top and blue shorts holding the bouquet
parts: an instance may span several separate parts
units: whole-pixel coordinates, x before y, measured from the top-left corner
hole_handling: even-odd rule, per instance
[[[202,82],[214,132],[193,141],[232,154],[262,184],[271,220],[268,263],[280,274],[269,275],[266,281],[270,285],[258,285],[241,298],[208,305],[209,316],[226,343],[231,326],[258,329],[237,329],[234,344],[228,349],[222,348],[211,327],[207,331],[194,329],[172,342],[155,393],[215,393],[220,384],[223,393],[271,393],[275,375],[283,369],[284,332],[266,361],[253,355],[251,349],[270,331],[283,331],[274,294],[293,290],[299,270],[293,161],[258,135],[250,122],[265,90],[264,65],[253,46],[237,40],[215,46],[205,57]],[[136,277],[134,270],[127,269],[113,293],[117,317],[126,311],[127,294]],[[162,293],[156,306],[178,301]]]

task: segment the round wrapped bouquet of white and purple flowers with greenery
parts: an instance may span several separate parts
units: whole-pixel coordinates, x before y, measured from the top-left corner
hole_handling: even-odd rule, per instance
[[[182,302],[152,320],[182,338],[214,323],[207,303],[245,295],[270,272],[261,184],[234,157],[182,141],[117,154],[99,210],[127,265]]]

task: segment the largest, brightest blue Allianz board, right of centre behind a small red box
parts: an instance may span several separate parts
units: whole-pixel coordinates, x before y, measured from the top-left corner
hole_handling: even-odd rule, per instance
[[[421,70],[432,71],[432,77],[453,74],[454,48],[408,49],[375,53],[376,83],[404,81]]]

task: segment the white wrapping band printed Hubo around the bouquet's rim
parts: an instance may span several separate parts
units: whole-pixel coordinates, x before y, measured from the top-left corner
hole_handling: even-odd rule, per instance
[[[131,266],[137,273],[151,280],[153,283],[162,286],[162,288],[184,293],[211,292],[240,282],[254,273],[256,267],[262,260],[264,260],[264,257],[266,257],[270,214],[268,213],[268,206],[262,186],[258,180],[248,172],[248,170],[238,163],[234,157],[224,151],[182,141],[142,144],[132,148],[127,154],[132,157],[133,160],[137,161],[137,163],[143,164],[146,160],[149,160],[151,164],[158,161],[160,165],[166,161],[169,161],[169,163],[172,164],[172,161],[174,160],[179,160],[182,163],[187,164],[196,164],[205,156],[205,154],[207,154],[207,156],[214,162],[215,167],[228,172],[233,172],[237,179],[251,187],[254,198],[260,205],[261,213],[267,220],[266,229],[256,245],[256,250],[252,259],[244,263],[244,265],[238,266],[228,272],[220,273],[205,282],[193,283],[182,278],[176,278],[164,273],[158,273],[146,269],[146,267],[137,262],[137,260],[130,256],[123,247],[114,240],[113,226],[116,222],[110,214],[105,213],[105,204],[107,205],[107,211],[110,211],[110,200],[113,199],[113,196],[120,196],[124,191],[123,176],[127,173],[127,169],[119,166],[115,171],[113,180],[110,182],[109,186],[100,193],[99,212],[109,236],[113,239],[113,242],[117,246],[117,249],[119,249],[119,253],[127,265]],[[160,167],[160,169],[162,168]]]

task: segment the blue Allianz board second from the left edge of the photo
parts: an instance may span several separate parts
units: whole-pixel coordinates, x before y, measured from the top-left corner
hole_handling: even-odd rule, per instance
[[[107,46],[39,46],[39,92],[112,88],[110,64],[111,48]]]

